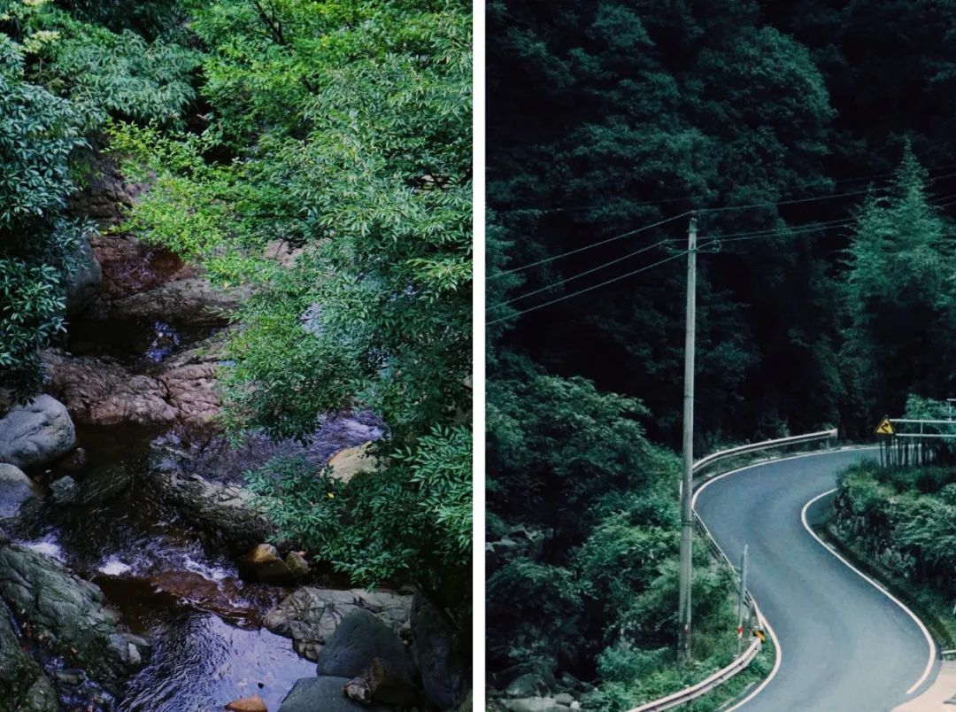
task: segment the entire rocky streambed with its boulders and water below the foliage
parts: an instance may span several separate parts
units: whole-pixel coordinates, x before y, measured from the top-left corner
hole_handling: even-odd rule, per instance
[[[115,182],[92,190],[101,219],[103,191],[132,199]],[[43,355],[47,392],[0,404],[0,709],[460,703],[437,612],[413,590],[349,588],[274,541],[243,488],[272,456],[320,467],[384,425],[337,413],[306,445],[229,447],[213,385],[241,295],[128,235],[84,254],[69,333]]]

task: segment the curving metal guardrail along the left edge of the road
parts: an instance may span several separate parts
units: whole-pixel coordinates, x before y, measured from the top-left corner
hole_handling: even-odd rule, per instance
[[[693,471],[697,472],[698,470],[705,468],[707,465],[712,465],[714,462],[718,462],[728,457],[746,455],[747,453],[753,453],[759,450],[770,450],[771,448],[786,447],[788,445],[802,445],[804,443],[815,442],[816,440],[826,440],[834,437],[836,437],[836,428],[828,431],[819,431],[818,433],[792,435],[790,437],[779,437],[773,440],[763,440],[761,442],[740,445],[735,448],[722,450],[720,452],[713,453],[712,455],[702,457],[694,463]],[[724,552],[724,549],[717,544],[717,541],[710,534],[710,530],[707,529],[706,524],[700,517],[697,516],[696,512],[694,512],[694,522],[704,535],[707,544],[710,545],[718,557],[723,559],[728,567],[736,571],[737,568],[734,567],[730,562],[730,559]],[[751,609],[756,613],[757,620],[760,622],[761,627],[765,627],[764,616],[760,612],[760,609],[757,608],[757,603],[753,600],[753,596],[750,595],[750,591],[747,591],[747,600]],[[679,707],[682,704],[686,704],[687,702],[694,701],[697,698],[706,695],[706,693],[710,692],[711,690],[720,687],[722,684],[727,682],[728,679],[733,678],[738,673],[747,669],[753,658],[756,657],[760,652],[760,648],[760,640],[754,637],[753,641],[750,643],[750,647],[744,651],[742,655],[734,658],[734,660],[730,662],[727,667],[718,670],[716,673],[706,679],[702,679],[700,682],[690,685],[689,687],[685,687],[683,690],[668,695],[667,697],[663,697],[660,700],[645,702],[641,704],[640,707],[635,707],[628,712],[661,712],[662,710],[672,709],[674,707]]]

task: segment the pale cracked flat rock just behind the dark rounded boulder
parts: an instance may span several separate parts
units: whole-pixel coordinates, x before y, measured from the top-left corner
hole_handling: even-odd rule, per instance
[[[407,624],[411,605],[411,596],[384,590],[323,590],[307,586],[268,612],[263,625],[274,634],[291,637],[300,656],[316,660],[349,613],[359,609],[370,612],[398,632]]]

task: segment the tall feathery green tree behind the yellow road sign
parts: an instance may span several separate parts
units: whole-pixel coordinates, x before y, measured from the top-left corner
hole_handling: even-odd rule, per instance
[[[943,392],[951,380],[956,254],[924,181],[907,147],[893,193],[864,203],[848,251],[846,353],[862,374],[871,420],[901,412],[906,393]]]

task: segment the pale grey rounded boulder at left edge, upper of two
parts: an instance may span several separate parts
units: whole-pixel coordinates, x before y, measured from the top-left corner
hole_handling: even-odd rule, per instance
[[[49,395],[38,395],[0,418],[0,462],[43,465],[69,453],[74,445],[76,428],[70,413]]]

